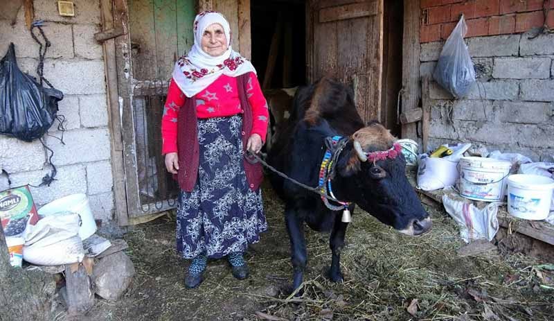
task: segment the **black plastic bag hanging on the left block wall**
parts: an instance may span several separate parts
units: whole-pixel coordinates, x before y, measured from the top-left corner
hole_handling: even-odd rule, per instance
[[[33,141],[52,125],[64,94],[44,88],[17,67],[15,46],[0,61],[0,134]]]

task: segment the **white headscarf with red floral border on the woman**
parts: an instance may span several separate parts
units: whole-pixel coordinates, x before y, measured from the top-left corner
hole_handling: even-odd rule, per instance
[[[220,24],[227,38],[227,50],[218,57],[212,57],[202,50],[202,36],[211,24]],[[253,71],[249,60],[231,49],[231,28],[229,22],[219,12],[203,11],[195,17],[195,43],[187,55],[179,58],[173,69],[173,80],[181,91],[190,98],[202,92],[219,76],[240,76]]]

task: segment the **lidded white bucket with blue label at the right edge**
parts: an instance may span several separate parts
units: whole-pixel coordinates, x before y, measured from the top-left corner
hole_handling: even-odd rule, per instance
[[[544,220],[550,211],[554,180],[542,175],[508,177],[508,213],[528,220]]]

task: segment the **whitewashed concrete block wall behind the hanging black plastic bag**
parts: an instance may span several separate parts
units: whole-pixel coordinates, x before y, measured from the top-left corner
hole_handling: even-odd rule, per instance
[[[62,17],[57,1],[34,1],[35,19],[45,21],[44,33],[52,43],[44,76],[64,93],[59,114],[65,116],[66,132],[62,144],[55,121],[44,137],[54,151],[56,180],[51,186],[31,187],[31,192],[39,206],[71,193],[87,193],[95,218],[111,220],[114,196],[104,60],[102,46],[93,39],[100,31],[100,1],[74,3],[75,17]],[[0,55],[10,42],[15,44],[20,69],[36,76],[39,46],[25,26],[23,8],[15,24],[0,20]],[[51,171],[45,166],[47,153],[39,141],[25,143],[0,136],[0,150],[0,168],[10,173],[12,186],[38,186]],[[7,188],[6,176],[0,175],[0,190]]]

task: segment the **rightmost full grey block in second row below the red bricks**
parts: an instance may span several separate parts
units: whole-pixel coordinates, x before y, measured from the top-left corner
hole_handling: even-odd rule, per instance
[[[550,77],[550,68],[550,58],[494,58],[492,76],[497,79],[546,79]]]

